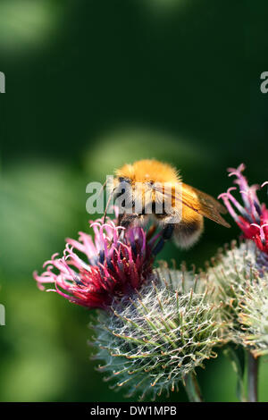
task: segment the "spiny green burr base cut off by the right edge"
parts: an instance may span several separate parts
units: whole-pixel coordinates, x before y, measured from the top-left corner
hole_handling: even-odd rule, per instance
[[[268,272],[256,261],[262,253],[251,240],[220,249],[205,275],[214,282],[215,296],[224,302],[226,339],[241,344],[255,357],[268,353]],[[265,268],[265,267],[264,267]]]

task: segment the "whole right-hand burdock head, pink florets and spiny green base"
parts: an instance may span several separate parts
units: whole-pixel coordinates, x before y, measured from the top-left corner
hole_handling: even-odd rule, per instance
[[[230,176],[236,177],[243,205],[233,197],[234,187],[220,196],[239,225],[243,240],[232,242],[230,249],[221,249],[207,274],[224,302],[222,313],[230,321],[230,340],[258,356],[268,353],[268,210],[256,196],[258,186],[248,186],[244,169],[243,164],[229,169]]]

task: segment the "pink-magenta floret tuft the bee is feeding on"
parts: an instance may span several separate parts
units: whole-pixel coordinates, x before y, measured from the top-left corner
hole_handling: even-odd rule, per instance
[[[44,264],[46,271],[35,272],[34,278],[41,290],[53,283],[53,291],[73,303],[107,308],[114,298],[130,296],[150,279],[158,236],[148,240],[142,228],[126,231],[111,220],[90,226],[94,239],[81,231],[79,240],[66,239],[63,257],[54,254]]]

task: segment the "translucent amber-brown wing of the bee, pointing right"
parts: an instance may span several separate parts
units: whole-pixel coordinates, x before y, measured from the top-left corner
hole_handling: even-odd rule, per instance
[[[166,185],[164,187],[154,185],[152,188],[158,192],[162,192],[165,197],[170,197],[172,200],[180,200],[183,205],[213,220],[215,223],[230,228],[230,224],[225,222],[221,216],[221,213],[226,213],[225,207],[215,200],[214,197],[205,194],[205,192],[199,191],[184,183],[181,183],[178,188],[172,186],[166,187]]]

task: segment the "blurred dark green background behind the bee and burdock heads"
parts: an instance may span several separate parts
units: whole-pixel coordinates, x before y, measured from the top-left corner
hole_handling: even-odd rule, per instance
[[[123,163],[165,160],[214,197],[229,166],[268,179],[267,13],[265,0],[1,0],[0,400],[124,400],[88,358],[90,313],[32,272],[89,231],[86,185]],[[195,248],[161,258],[203,265],[238,234],[206,221]],[[206,400],[236,400],[221,355],[199,375]],[[264,362],[260,379],[267,401]]]

